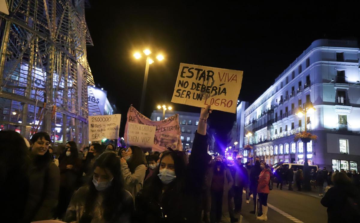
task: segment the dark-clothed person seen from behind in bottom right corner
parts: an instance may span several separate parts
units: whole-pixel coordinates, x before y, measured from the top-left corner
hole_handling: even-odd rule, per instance
[[[332,182],[334,187],[329,188],[321,199],[321,204],[328,208],[328,223],[359,222],[360,195],[351,179],[345,173],[337,172],[332,175]]]

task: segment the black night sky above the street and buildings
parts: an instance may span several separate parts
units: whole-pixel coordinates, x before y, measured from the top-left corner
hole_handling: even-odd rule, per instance
[[[351,4],[156,2],[90,0],[85,10],[94,42],[87,58],[95,83],[123,115],[120,136],[130,104],[140,109],[145,57],[135,60],[135,50],[165,54],[162,62],[153,58],[149,69],[144,115],[150,117],[158,104],[200,111],[170,103],[180,63],[243,70],[239,100],[252,103],[312,41],[360,37],[359,7]],[[221,140],[234,120],[235,114],[214,111],[210,126]]]

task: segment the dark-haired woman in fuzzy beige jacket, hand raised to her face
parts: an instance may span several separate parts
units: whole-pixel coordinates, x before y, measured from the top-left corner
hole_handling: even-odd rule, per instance
[[[127,149],[127,156],[120,159],[121,172],[125,180],[125,189],[132,197],[143,188],[145,178],[144,152],[139,146],[130,146]]]

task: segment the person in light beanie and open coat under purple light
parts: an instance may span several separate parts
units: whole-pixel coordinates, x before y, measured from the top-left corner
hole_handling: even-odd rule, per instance
[[[210,222],[220,222],[222,213],[228,212],[228,193],[233,186],[233,177],[230,170],[225,166],[224,156],[216,156],[206,177],[208,206],[210,210]],[[231,222],[238,222],[238,219],[231,217]]]

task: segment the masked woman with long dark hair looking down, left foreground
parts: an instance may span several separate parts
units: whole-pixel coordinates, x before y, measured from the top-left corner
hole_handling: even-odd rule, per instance
[[[124,190],[119,158],[105,152],[95,160],[93,177],[71,198],[66,222],[130,223],[134,213],[131,194]]]

